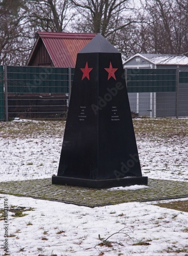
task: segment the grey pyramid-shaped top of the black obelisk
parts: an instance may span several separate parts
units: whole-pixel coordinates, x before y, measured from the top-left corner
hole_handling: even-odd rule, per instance
[[[79,53],[120,53],[100,33],[97,34]]]

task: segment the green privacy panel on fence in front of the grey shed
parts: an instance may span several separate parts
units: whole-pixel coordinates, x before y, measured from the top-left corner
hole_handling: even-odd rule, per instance
[[[175,69],[127,69],[129,93],[175,92]]]

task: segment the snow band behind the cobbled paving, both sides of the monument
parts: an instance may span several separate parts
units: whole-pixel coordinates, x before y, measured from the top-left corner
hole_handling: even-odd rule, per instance
[[[14,123],[27,121],[23,119]],[[37,124],[39,121],[32,122]],[[62,141],[63,135],[59,134],[1,138],[1,181],[50,178],[57,174]],[[188,180],[188,139],[178,136],[168,139],[137,136],[136,142],[143,176]]]

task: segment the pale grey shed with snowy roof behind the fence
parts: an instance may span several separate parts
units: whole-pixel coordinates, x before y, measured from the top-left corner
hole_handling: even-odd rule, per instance
[[[143,70],[143,72],[139,72],[137,77],[135,75],[136,78],[131,78],[131,84],[135,83],[137,91],[129,92],[130,90],[128,90],[128,95],[131,111],[136,116],[177,117],[188,115],[188,83],[185,81],[188,77],[188,57],[137,53],[126,60],[123,66],[128,71],[131,69],[161,70],[161,75],[160,71],[153,75],[152,71],[145,72]],[[146,73],[151,75],[148,74],[146,77]],[[128,74],[130,76],[130,72]],[[128,79],[128,89],[129,81]],[[148,81],[150,83],[149,90]],[[169,89],[155,90],[156,85],[154,86],[154,83],[158,83],[160,89],[165,88],[168,84]]]

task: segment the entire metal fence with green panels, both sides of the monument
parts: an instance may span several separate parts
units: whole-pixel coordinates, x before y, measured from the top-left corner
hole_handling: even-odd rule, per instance
[[[0,66],[0,120],[66,118],[75,69]],[[188,72],[125,70],[133,117],[187,117]]]

